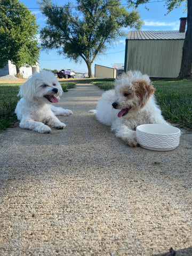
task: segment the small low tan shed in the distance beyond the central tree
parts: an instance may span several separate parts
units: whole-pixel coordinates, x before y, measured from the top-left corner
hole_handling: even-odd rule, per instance
[[[116,78],[116,69],[95,64],[95,77]]]

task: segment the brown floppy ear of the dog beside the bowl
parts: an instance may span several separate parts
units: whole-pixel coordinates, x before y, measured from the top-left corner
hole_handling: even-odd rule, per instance
[[[148,77],[147,77],[148,78]],[[151,95],[154,94],[155,88],[150,84],[150,79],[139,78],[135,81],[132,81],[133,91],[137,94],[137,97],[140,99],[140,107],[145,106]]]

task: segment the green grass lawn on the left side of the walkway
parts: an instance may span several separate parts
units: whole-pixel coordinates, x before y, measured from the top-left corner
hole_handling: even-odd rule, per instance
[[[75,83],[60,82],[60,84],[63,92],[75,86]],[[0,84],[0,131],[13,126],[17,121],[14,110],[20,99],[17,96],[18,92],[19,84]]]

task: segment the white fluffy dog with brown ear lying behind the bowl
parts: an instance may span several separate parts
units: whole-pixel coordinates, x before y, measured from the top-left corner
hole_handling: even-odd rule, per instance
[[[97,119],[128,145],[137,146],[135,129],[141,124],[167,124],[153,96],[155,89],[147,75],[129,71],[115,81],[115,90],[102,94]],[[94,113],[94,110],[90,110]]]

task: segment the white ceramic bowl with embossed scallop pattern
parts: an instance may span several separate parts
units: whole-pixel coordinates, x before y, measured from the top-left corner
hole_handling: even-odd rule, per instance
[[[151,150],[173,150],[179,145],[181,131],[172,125],[142,124],[136,128],[136,136],[142,148]]]

